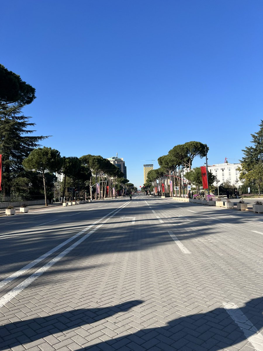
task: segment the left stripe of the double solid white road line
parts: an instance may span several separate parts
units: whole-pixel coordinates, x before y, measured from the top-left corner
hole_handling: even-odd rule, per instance
[[[126,206],[128,203],[122,205],[120,207],[120,210],[122,207]],[[117,212],[119,212],[120,210],[118,210]],[[75,234],[73,237],[67,239],[66,241],[63,241],[63,243],[59,244],[58,246],[54,247],[52,250],[49,250],[48,252],[44,253],[42,256],[40,256],[39,258],[35,259],[34,261],[32,261],[31,263],[27,264],[26,266],[22,267],[20,270],[16,271],[15,273],[11,274],[11,276],[7,277],[6,279],[2,280],[0,282],[0,289],[5,286],[6,284],[12,282],[12,280],[14,280],[15,278],[18,278],[19,276],[21,276],[22,274],[26,273],[26,271],[28,271],[29,269],[31,269],[32,267],[34,267],[36,264],[38,264],[39,262],[41,262],[43,259],[47,258],[48,256],[50,256],[52,253],[58,251],[61,247],[67,245],[68,243],[70,243],[70,241],[76,239],[77,237],[79,237],[81,234],[85,233],[86,231],[88,231],[89,229],[91,229],[94,225],[96,225],[99,221],[101,221],[102,219],[108,217],[111,213],[113,213],[114,211],[106,214],[106,216],[96,220],[93,224],[89,225],[88,227],[86,227],[85,229],[83,229],[82,231],[80,231],[79,233]],[[117,213],[115,212],[115,213]],[[112,216],[110,216],[112,217]],[[110,218],[109,217],[109,218]]]

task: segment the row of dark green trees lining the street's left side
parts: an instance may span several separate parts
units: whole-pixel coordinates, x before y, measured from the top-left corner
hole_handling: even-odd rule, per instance
[[[0,65],[0,154],[2,155],[1,201],[31,200],[45,196],[51,200],[54,193],[71,197],[69,187],[78,189],[78,197],[112,197],[135,190],[118,167],[100,155],[61,157],[58,150],[40,147],[40,141],[50,137],[33,136],[30,122],[22,108],[35,99],[35,89],[22,81],[19,75]],[[63,173],[63,182],[57,182],[54,172]],[[100,185],[96,193],[96,184]],[[57,191],[56,191],[57,190]]]

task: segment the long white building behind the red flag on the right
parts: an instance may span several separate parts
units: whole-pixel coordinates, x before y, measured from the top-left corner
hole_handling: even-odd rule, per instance
[[[241,186],[242,182],[239,179],[240,172],[237,170],[240,165],[240,163],[217,163],[215,165],[209,165],[208,172],[217,177],[220,181],[219,184],[229,180],[231,184]],[[214,182],[214,185],[217,185],[216,182]]]

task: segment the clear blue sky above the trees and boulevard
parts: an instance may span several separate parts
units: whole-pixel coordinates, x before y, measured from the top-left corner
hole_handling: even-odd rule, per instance
[[[238,162],[263,119],[262,0],[4,0],[0,28],[44,145],[118,152],[137,187],[143,163],[190,140]]]

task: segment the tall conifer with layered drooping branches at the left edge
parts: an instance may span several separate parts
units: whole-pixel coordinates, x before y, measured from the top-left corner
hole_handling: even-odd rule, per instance
[[[2,189],[5,197],[11,196],[11,188],[16,178],[28,178],[22,166],[24,158],[36,147],[39,141],[48,136],[32,136],[35,123],[31,117],[22,114],[21,107],[0,108],[0,154],[2,154]]]

